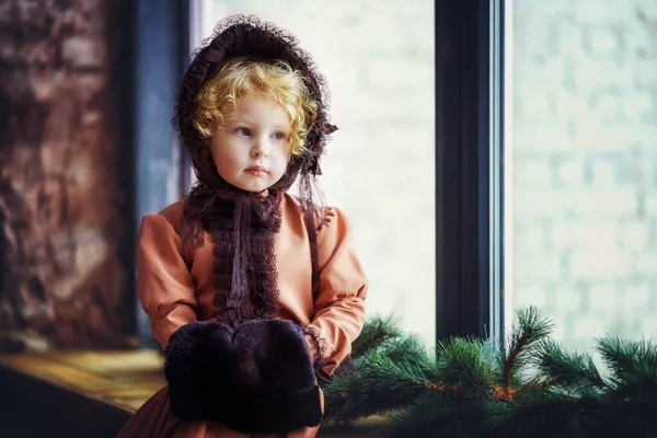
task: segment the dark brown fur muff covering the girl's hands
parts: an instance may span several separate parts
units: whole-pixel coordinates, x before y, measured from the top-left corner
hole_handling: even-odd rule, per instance
[[[322,420],[301,327],[286,320],[183,325],[164,350],[171,408],[244,433],[281,433]]]

